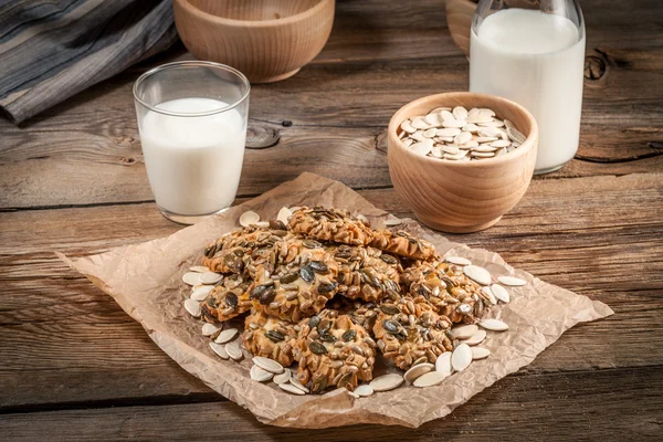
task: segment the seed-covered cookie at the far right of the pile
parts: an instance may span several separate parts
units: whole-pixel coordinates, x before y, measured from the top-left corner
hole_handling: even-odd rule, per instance
[[[407,269],[401,281],[410,296],[427,299],[454,324],[475,323],[491,305],[481,287],[450,263],[420,262]]]

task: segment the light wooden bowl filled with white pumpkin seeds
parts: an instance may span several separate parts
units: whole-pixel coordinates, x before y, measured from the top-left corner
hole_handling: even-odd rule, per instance
[[[399,139],[407,118],[435,107],[487,107],[527,136],[517,149],[478,161],[422,157]],[[389,173],[397,193],[424,224],[444,232],[476,232],[495,224],[523,198],[536,162],[538,127],[523,106],[471,92],[430,95],[401,107],[388,129]]]

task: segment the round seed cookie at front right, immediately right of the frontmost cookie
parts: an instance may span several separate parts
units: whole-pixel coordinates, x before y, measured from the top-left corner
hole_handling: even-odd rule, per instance
[[[423,298],[402,297],[381,304],[373,334],[387,359],[403,370],[415,364],[434,364],[438,356],[453,349],[446,332],[451,322],[438,315]]]

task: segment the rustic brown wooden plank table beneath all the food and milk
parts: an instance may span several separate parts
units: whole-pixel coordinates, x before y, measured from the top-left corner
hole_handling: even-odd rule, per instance
[[[454,241],[501,253],[615,315],[578,326],[530,366],[419,430],[266,427],[188,375],[54,253],[99,252],[178,229],[152,200],[131,83],[181,46],[17,128],[0,120],[0,440],[663,439],[663,3],[583,0],[580,150],[537,177],[494,228]],[[407,4],[407,6],[406,6]],[[390,116],[467,88],[440,0],[338,2],[323,53],[253,87],[242,201],[313,171],[397,215]]]

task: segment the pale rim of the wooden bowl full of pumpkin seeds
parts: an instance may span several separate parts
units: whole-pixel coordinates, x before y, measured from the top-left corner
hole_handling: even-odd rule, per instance
[[[525,141],[520,145],[520,147],[523,145],[526,145],[525,148],[520,149],[520,147],[518,147],[515,151],[508,152],[507,155],[502,155],[499,157],[493,157],[493,158],[486,158],[481,161],[454,161],[454,160],[445,160],[443,158],[422,157],[421,155],[414,154],[411,149],[408,149],[397,135],[397,129],[400,127],[401,123],[403,122],[402,115],[406,114],[411,107],[414,107],[425,101],[430,101],[430,102],[434,103],[434,107],[444,106],[442,101],[452,95],[461,96],[461,99],[462,99],[462,96],[478,97],[481,99],[483,99],[483,98],[495,99],[496,98],[499,101],[504,101],[509,106],[518,108],[518,110],[522,110],[525,114],[525,116],[529,119],[529,123],[532,125],[532,130],[529,131],[529,134],[527,134]],[[516,158],[527,155],[527,152],[529,152],[532,149],[534,149],[536,147],[535,140],[538,139],[538,124],[536,123],[536,119],[529,113],[529,110],[527,110],[524,106],[519,105],[518,103],[513,102],[508,98],[504,98],[498,95],[481,94],[477,92],[443,92],[441,94],[422,96],[420,98],[413,99],[410,103],[401,106],[393,114],[391,119],[389,120],[389,126],[387,129],[387,137],[388,137],[388,139],[392,138],[393,140],[396,140],[396,147],[398,149],[401,149],[402,151],[404,151],[406,155],[410,155],[414,158],[418,158],[418,159],[421,159],[424,161],[429,161],[430,164],[436,164],[440,166],[448,166],[448,167],[462,167],[462,168],[486,167],[486,166],[493,166],[493,165],[502,165],[504,162],[511,162],[512,160],[515,160]]]

